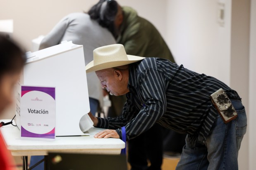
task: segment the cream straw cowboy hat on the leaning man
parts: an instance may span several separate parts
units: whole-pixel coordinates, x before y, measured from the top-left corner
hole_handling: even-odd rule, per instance
[[[145,57],[127,55],[122,44],[112,44],[93,50],[93,61],[86,65],[86,72],[127,65]]]

